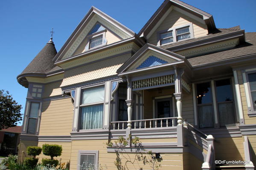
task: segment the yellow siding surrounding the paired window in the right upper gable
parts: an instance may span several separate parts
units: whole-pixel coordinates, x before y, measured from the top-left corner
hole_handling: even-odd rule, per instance
[[[157,33],[165,29],[170,29],[177,26],[183,26],[188,23],[193,23],[194,37],[202,37],[208,34],[207,26],[198,21],[172,10],[165,20],[160,24],[156,31],[148,38],[148,42],[157,45]]]

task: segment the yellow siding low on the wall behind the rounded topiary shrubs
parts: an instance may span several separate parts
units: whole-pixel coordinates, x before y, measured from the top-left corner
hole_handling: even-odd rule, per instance
[[[38,142],[38,147],[42,147],[43,144],[58,144],[62,146],[62,155],[58,157],[54,157],[54,159],[62,159],[61,162],[67,164],[70,161],[71,154],[71,142]],[[38,156],[39,162],[41,162],[42,158],[49,159],[50,156],[45,156],[43,152]]]

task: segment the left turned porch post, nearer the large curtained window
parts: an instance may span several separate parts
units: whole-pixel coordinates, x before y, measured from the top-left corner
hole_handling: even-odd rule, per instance
[[[133,94],[132,94],[132,82],[130,80],[130,78],[127,76],[127,100],[126,100],[126,103],[127,103],[127,113],[128,113],[128,121],[127,121],[127,128],[128,129],[131,129],[132,127],[132,122],[131,122],[131,119],[132,119],[132,98],[133,98]]]

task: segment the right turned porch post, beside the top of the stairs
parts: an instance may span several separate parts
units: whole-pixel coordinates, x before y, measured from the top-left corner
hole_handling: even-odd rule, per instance
[[[181,72],[183,70],[180,70],[179,68],[177,68],[176,66],[174,66],[174,71],[175,71],[175,99],[176,99],[176,104],[177,104],[177,112],[178,112],[178,124],[182,124],[182,100],[181,100]]]

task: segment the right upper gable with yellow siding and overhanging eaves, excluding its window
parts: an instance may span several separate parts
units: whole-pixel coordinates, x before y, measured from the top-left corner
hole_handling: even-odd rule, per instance
[[[162,20],[147,35],[149,43],[158,44],[160,32],[189,26],[191,27],[191,38],[202,37],[208,34],[207,25],[198,17],[189,14],[177,7],[171,7],[163,16]]]

